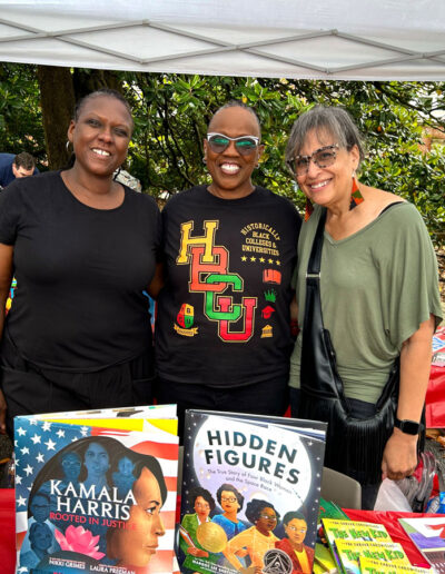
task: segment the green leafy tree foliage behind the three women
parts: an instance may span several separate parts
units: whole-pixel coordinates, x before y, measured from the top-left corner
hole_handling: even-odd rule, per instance
[[[135,115],[135,135],[125,166],[142,188],[159,196],[205,182],[202,139],[212,113],[230,99],[253,106],[260,119],[265,154],[257,184],[288,196],[303,208],[304,198],[284,166],[291,125],[315,103],[344,106],[366,138],[364,184],[414,202],[436,244],[444,244],[444,147],[422,149],[424,127],[445,132],[445,82],[353,82],[200,77],[140,72],[72,70],[79,85],[119,88]],[[111,81],[112,80],[112,81]],[[441,116],[442,113],[442,116]],[[31,66],[0,66],[0,144],[44,156],[39,88]],[[60,142],[65,146],[65,140]]]

